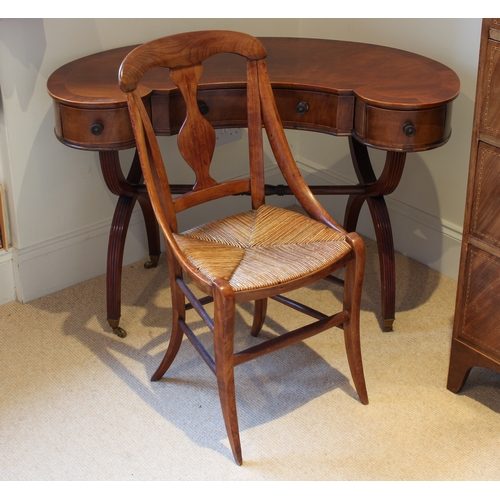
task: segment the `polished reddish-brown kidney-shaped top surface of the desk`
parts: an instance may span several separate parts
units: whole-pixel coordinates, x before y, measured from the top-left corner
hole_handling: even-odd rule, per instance
[[[273,88],[304,89],[354,95],[381,108],[426,109],[454,100],[460,89],[456,73],[430,58],[411,52],[357,42],[313,38],[263,37]],[[118,68],[134,46],[121,47],[72,61],[49,78],[51,97],[76,107],[123,106]],[[207,62],[202,85],[235,88],[243,85],[244,62],[218,55]],[[166,72],[146,75],[145,95],[171,89]]]

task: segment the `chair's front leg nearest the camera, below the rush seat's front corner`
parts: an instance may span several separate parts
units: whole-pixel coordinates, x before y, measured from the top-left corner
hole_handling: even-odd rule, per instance
[[[234,294],[229,284],[216,283],[214,287],[214,349],[215,374],[222,407],[222,415],[234,460],[243,463],[241,455],[236,391],[234,387]]]

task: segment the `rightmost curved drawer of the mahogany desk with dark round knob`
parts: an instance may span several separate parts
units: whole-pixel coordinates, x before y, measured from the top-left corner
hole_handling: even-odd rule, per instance
[[[367,146],[424,151],[451,135],[452,103],[431,109],[392,110],[356,101],[353,135]]]

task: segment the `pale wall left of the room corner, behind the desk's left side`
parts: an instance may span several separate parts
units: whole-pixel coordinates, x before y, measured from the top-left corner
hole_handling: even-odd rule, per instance
[[[1,19],[0,183],[12,226],[0,251],[0,303],[29,301],[105,272],[116,197],[103,184],[98,155],[60,144],[53,133],[48,77],[102,50],[176,32],[234,29],[297,35],[297,20]],[[231,145],[219,156],[233,152]],[[124,154],[124,165],[130,155]],[[244,161],[244,160],[243,160]],[[131,221],[125,263],[146,258],[142,215]]]

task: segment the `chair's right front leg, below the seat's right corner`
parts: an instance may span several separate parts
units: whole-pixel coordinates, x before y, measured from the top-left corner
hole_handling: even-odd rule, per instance
[[[349,320],[344,323],[344,342],[347,360],[351,370],[354,387],[363,404],[368,404],[363,361],[361,357],[361,341],[359,333],[361,292],[365,268],[365,246],[363,240],[356,235],[352,238],[354,258],[346,266],[344,278],[344,310],[349,311]]]

